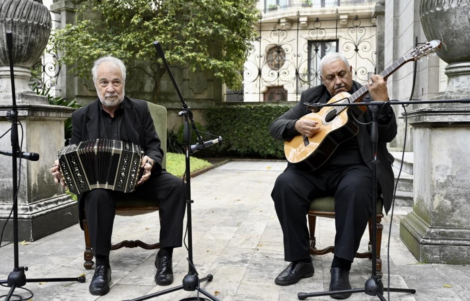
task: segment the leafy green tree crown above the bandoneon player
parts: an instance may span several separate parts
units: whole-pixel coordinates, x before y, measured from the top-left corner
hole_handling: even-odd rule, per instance
[[[139,72],[158,88],[165,69],[152,42],[159,41],[170,65],[213,71],[238,88],[258,15],[256,0],[82,1],[76,23],[56,30],[51,42],[61,62],[81,77],[90,77],[94,60],[113,55],[131,68],[139,68],[130,64],[135,61],[156,62]]]

